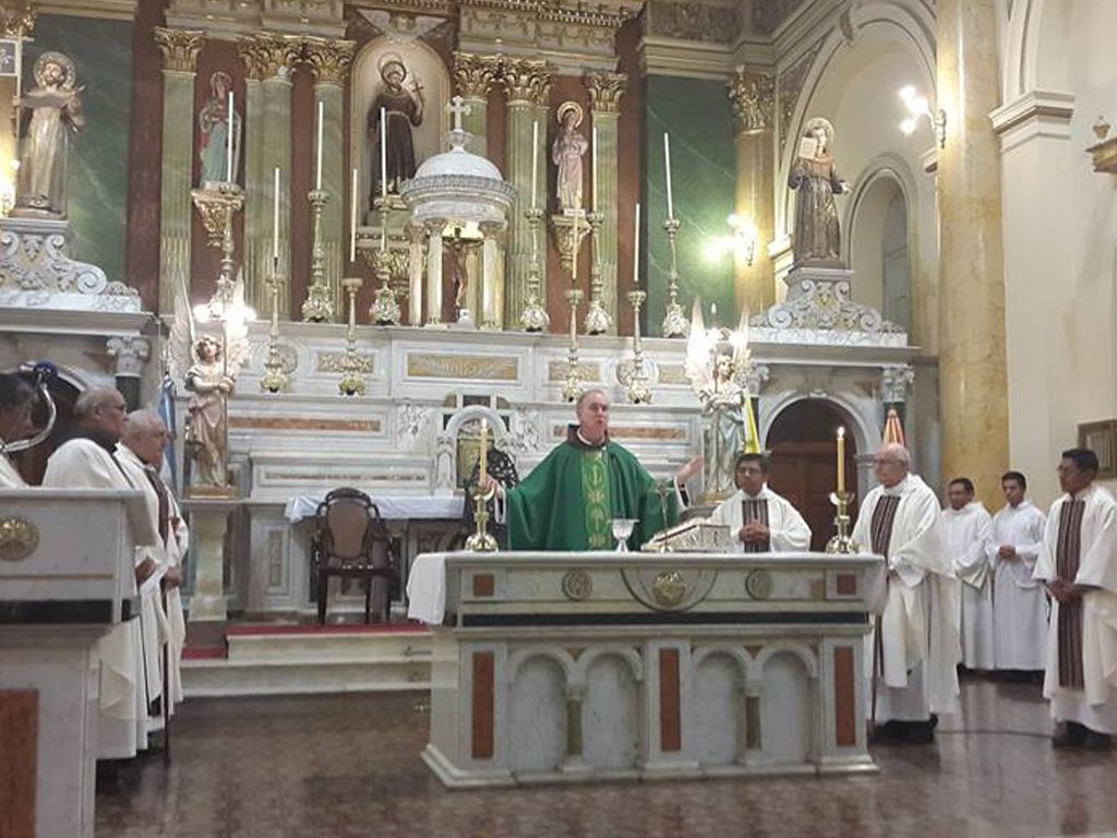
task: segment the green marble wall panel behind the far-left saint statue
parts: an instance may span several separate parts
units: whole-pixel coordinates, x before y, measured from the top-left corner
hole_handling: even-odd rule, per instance
[[[70,256],[126,280],[128,126],[132,115],[132,23],[40,15],[27,44],[23,89],[34,86],[35,60],[48,50],[77,67],[85,128],[70,136],[66,169]],[[157,230],[151,230],[157,235]]]

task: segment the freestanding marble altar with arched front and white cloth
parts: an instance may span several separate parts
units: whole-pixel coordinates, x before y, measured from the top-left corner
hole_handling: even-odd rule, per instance
[[[875,770],[869,554],[440,553],[430,742],[448,787]]]

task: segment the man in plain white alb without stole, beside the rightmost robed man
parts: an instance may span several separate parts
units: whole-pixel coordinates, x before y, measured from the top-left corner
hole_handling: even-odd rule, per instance
[[[1008,502],[993,516],[986,551],[996,568],[993,585],[993,648],[996,668],[1043,669],[1047,655],[1047,592],[1032,579],[1047,517],[1024,498],[1027,478],[1005,472],[1001,488]]]

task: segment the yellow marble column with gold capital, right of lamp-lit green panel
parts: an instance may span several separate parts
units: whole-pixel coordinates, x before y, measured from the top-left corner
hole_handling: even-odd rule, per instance
[[[773,104],[775,80],[744,67],[729,83],[737,130],[736,212],[756,231],[753,264],[735,265],[737,307],[762,312],[775,303],[775,280],[767,246],[775,236]]]

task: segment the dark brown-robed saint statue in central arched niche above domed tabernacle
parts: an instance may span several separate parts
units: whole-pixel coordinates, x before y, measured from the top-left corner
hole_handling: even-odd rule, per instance
[[[398,193],[400,183],[414,177],[416,173],[412,128],[422,125],[423,87],[414,74],[411,74],[411,88],[405,88],[403,82],[408,75],[403,59],[395,53],[388,53],[380,59],[380,78],[384,86],[372,101],[367,120],[369,141],[375,149],[373,170],[376,172],[373,178],[371,200],[381,194],[382,187],[379,181],[382,177],[382,160],[389,192]],[[380,124],[381,109],[384,112],[386,125]]]

